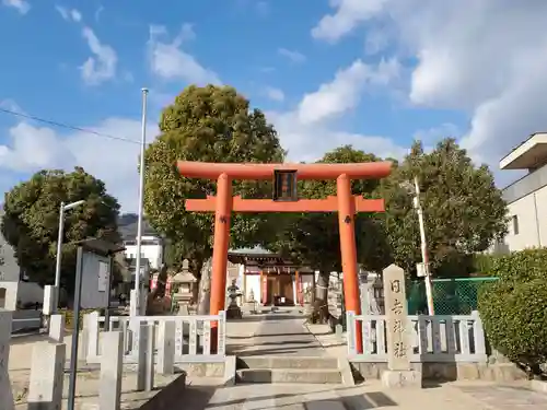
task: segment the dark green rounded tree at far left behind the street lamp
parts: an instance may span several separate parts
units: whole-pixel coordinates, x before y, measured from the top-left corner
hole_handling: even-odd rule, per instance
[[[2,234],[13,247],[19,266],[42,285],[55,281],[55,260],[61,202],[85,202],[65,213],[61,288],[73,293],[74,242],[105,237],[119,242],[119,204],[102,180],[77,167],[71,173],[40,171],[4,197]]]

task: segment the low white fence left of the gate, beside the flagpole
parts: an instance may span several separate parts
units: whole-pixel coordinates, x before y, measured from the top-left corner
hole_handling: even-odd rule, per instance
[[[83,335],[85,360],[88,363],[100,363],[100,333],[104,329],[104,316],[93,312],[84,316]],[[219,315],[191,316],[113,316],[109,318],[109,329],[119,329],[124,333],[125,363],[137,363],[139,356],[139,332],[141,324],[155,325],[155,338],[160,344],[159,325],[162,321],[175,323],[175,363],[222,362],[225,359],[225,312]],[[218,323],[217,352],[211,353],[211,324]]]

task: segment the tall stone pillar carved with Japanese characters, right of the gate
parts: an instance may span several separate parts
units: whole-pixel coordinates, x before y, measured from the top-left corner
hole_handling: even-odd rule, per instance
[[[385,387],[421,388],[421,372],[410,367],[412,354],[410,324],[405,289],[405,271],[396,265],[384,269],[384,301],[387,319],[387,371],[382,374]]]

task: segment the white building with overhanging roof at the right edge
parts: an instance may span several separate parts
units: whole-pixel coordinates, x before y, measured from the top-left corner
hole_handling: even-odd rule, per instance
[[[527,174],[503,189],[509,209],[509,234],[494,251],[547,246],[547,132],[532,134],[500,161],[501,169]]]

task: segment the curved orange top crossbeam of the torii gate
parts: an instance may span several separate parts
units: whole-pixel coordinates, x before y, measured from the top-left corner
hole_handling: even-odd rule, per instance
[[[231,179],[272,179],[275,171],[295,171],[298,179],[380,179],[389,176],[392,163],[365,162],[357,164],[237,164],[178,161],[181,175],[187,178],[218,179],[225,174]]]

